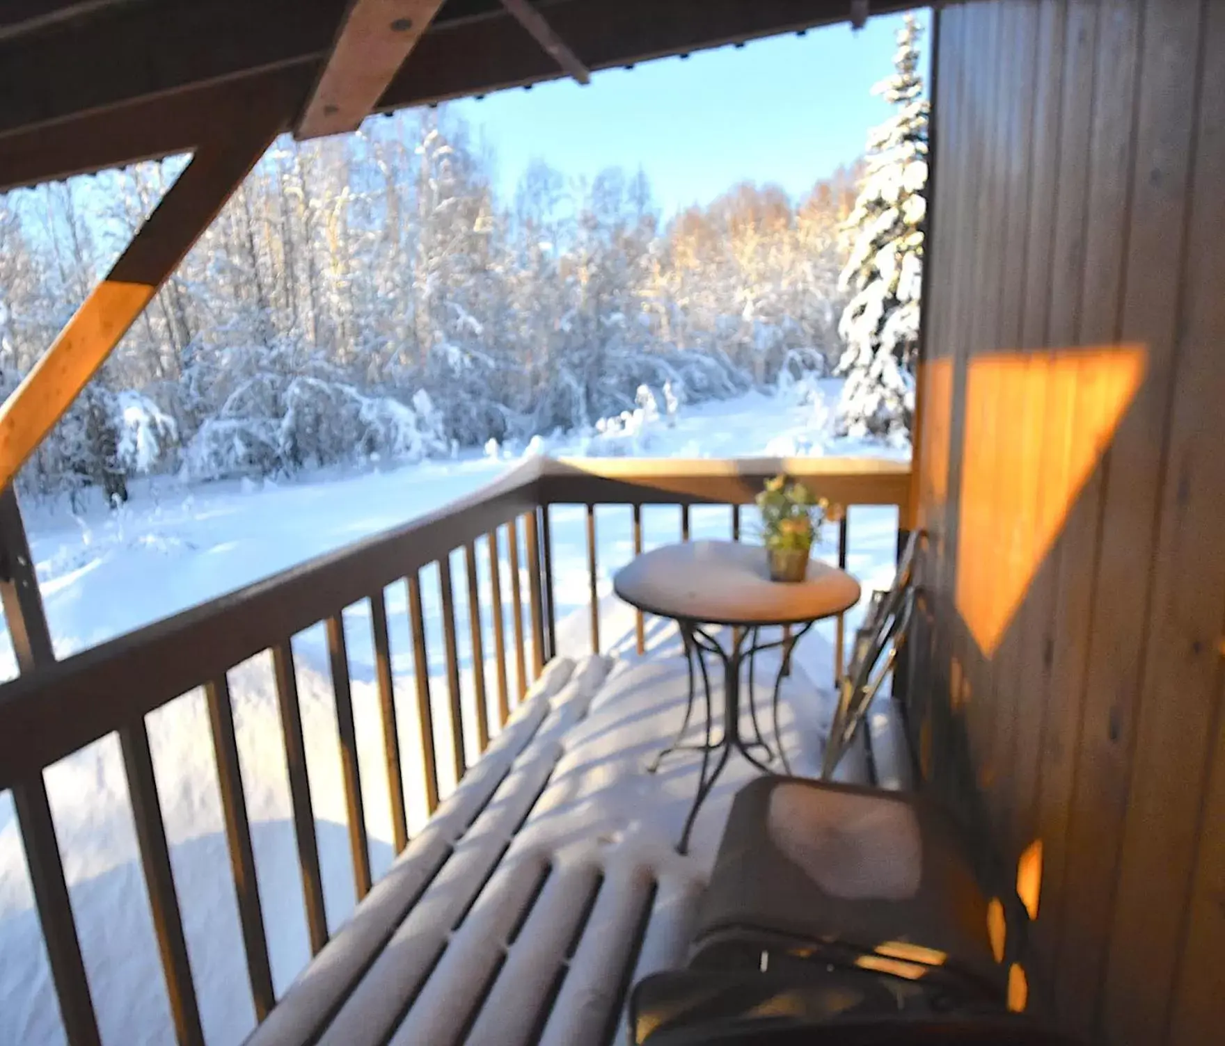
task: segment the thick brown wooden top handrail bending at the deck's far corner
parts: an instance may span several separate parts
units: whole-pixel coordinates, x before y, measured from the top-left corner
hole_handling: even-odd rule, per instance
[[[326,620],[371,592],[412,576],[466,542],[528,524],[527,566],[543,569],[538,509],[549,504],[748,504],[785,471],[842,504],[904,505],[910,471],[880,459],[755,458],[533,459],[485,488],[428,515],[294,566],[200,607],[0,686],[0,789],[42,771],[287,636]],[[511,546],[516,658],[523,652],[518,555]],[[532,579],[529,577],[529,581]],[[533,661],[543,656],[549,593],[529,590]],[[521,677],[522,680],[522,677]],[[519,681],[519,692],[523,692]]]

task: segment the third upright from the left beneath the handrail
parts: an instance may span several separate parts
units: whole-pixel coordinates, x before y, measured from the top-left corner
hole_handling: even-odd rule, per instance
[[[225,821],[225,842],[229,847],[239,922],[243,926],[243,947],[246,952],[251,998],[255,1002],[255,1019],[263,1020],[276,1006],[277,996],[272,990],[268,940],[263,926],[263,908],[260,904],[260,887],[255,877],[251,822],[246,812],[243,768],[238,760],[238,738],[234,733],[234,705],[224,675],[205,684],[205,697],[208,701],[217,785],[222,799],[222,817]]]

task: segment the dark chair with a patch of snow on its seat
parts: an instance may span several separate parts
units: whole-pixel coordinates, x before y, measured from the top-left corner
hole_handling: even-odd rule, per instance
[[[757,778],[733,801],[693,964],[804,955],[914,974],[964,1003],[1000,1003],[1007,970],[969,854],[957,826],[921,795]]]

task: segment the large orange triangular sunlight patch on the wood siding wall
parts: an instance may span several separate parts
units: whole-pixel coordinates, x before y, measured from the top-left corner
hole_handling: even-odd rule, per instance
[[[1143,345],[971,360],[957,609],[991,657],[1144,378]]]

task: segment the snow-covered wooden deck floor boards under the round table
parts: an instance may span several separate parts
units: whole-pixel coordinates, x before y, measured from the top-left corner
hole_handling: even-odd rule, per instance
[[[733,755],[690,855],[677,854],[701,756],[646,771],[679,729],[687,692],[675,636],[655,640],[643,658],[546,668],[252,1046],[626,1041],[625,992],[685,963],[729,804],[757,773]],[[760,659],[763,706],[777,668],[771,655]],[[780,732],[795,773],[816,772],[829,701],[802,672],[784,684]],[[704,723],[695,716],[688,741]],[[859,776],[854,761],[849,773]]]

